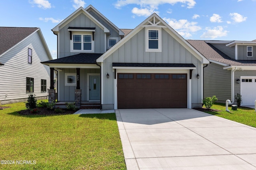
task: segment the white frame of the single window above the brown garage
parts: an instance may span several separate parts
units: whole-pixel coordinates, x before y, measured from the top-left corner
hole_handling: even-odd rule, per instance
[[[158,49],[150,49],[148,46],[149,46],[149,43],[148,41],[150,40],[149,39],[149,36],[148,36],[148,33],[149,31],[158,31]],[[161,28],[155,28],[155,27],[149,27],[149,28],[146,28],[146,38],[145,38],[145,51],[146,52],[162,52],[162,29]]]

